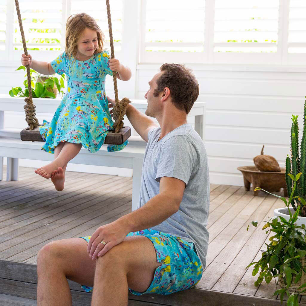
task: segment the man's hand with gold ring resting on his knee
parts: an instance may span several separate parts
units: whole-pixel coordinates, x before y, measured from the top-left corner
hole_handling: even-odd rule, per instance
[[[100,226],[88,242],[87,252],[89,256],[91,259],[103,256],[112,247],[121,243],[128,233],[128,226],[120,219]],[[104,241],[106,244],[100,243],[101,241]]]

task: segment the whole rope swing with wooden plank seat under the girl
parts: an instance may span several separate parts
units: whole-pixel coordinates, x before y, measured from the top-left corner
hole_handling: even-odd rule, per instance
[[[24,31],[23,25],[21,20],[21,14],[19,9],[19,2],[15,0],[16,11],[18,16],[18,23],[21,32],[22,44],[24,49],[24,54],[28,55],[27,45],[24,38]],[[106,0],[106,10],[107,10],[107,20],[108,20],[108,30],[110,35],[110,51],[111,51],[111,58],[114,57],[114,41],[113,41],[113,32],[112,32],[112,22],[110,17],[110,2]],[[30,141],[44,141],[39,132],[39,122],[38,119],[35,117],[36,109],[35,105],[33,104],[32,99],[32,85],[31,85],[31,75],[30,75],[30,66],[26,66],[27,69],[27,77],[28,77],[28,90],[29,90],[29,97],[24,99],[26,103],[24,105],[25,111],[25,120],[27,121],[29,127],[21,131],[21,140],[30,140]],[[113,80],[114,80],[114,91],[115,91],[115,101],[116,105],[113,107],[113,117],[114,117],[114,125],[113,129],[115,130],[110,131],[107,133],[105,137],[104,144],[123,144],[125,140],[131,136],[131,129],[129,127],[124,127],[123,125],[123,117],[126,112],[126,108],[128,104],[131,102],[128,98],[123,98],[121,101],[118,99],[118,88],[117,88],[117,73],[113,71]]]

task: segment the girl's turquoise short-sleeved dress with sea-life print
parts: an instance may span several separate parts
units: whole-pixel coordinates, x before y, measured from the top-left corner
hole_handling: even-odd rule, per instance
[[[67,76],[67,90],[51,122],[43,121],[39,131],[45,144],[42,150],[54,154],[61,142],[82,144],[94,153],[100,149],[113,128],[105,93],[106,74],[113,75],[109,53],[94,54],[87,61],[78,61],[64,52],[50,64],[58,74]],[[109,145],[107,151],[122,150],[121,145]]]

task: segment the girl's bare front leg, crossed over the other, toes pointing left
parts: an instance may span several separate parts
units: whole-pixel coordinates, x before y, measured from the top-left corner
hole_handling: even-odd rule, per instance
[[[35,170],[35,173],[45,178],[50,178],[52,176],[52,172],[58,169],[58,167],[63,168],[67,166],[67,163],[80,152],[81,147],[82,144],[73,144],[70,142],[65,142],[61,151],[59,152],[58,156],[54,159],[54,161],[50,162],[46,166],[43,166]]]

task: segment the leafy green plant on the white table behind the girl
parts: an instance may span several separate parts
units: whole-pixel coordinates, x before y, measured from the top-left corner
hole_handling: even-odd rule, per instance
[[[16,69],[24,71],[26,70],[25,66],[20,66]],[[33,75],[34,74],[34,75]],[[53,98],[55,99],[56,92],[54,88],[58,90],[59,93],[62,95],[64,94],[64,91],[62,88],[65,87],[64,79],[65,75],[62,74],[60,78],[58,79],[56,76],[43,76],[39,73],[37,73],[35,70],[30,69],[30,75],[31,75],[31,85],[32,85],[32,96],[33,98]],[[32,76],[33,75],[33,76]],[[27,75],[25,75],[26,77]],[[29,96],[29,89],[28,89],[28,79],[24,80],[24,90],[22,90],[21,87],[12,87],[12,89],[9,91],[9,95],[11,97],[28,97]]]

